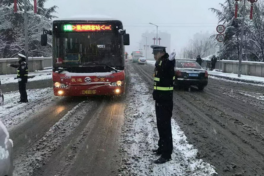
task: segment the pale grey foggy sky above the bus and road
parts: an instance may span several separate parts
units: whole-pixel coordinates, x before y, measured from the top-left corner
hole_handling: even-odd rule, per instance
[[[197,32],[214,32],[217,18],[209,10],[220,8],[224,0],[50,0],[46,7],[57,5],[59,18],[85,15],[107,15],[122,20],[130,34],[126,51],[137,50],[141,34],[146,31],[164,31],[171,34],[171,49],[180,51]],[[173,27],[181,26],[181,27]],[[188,26],[188,27],[186,27]],[[192,27],[190,27],[192,26]],[[153,36],[154,37],[154,36]],[[152,39],[148,39],[150,44]],[[162,41],[161,41],[162,44]]]

